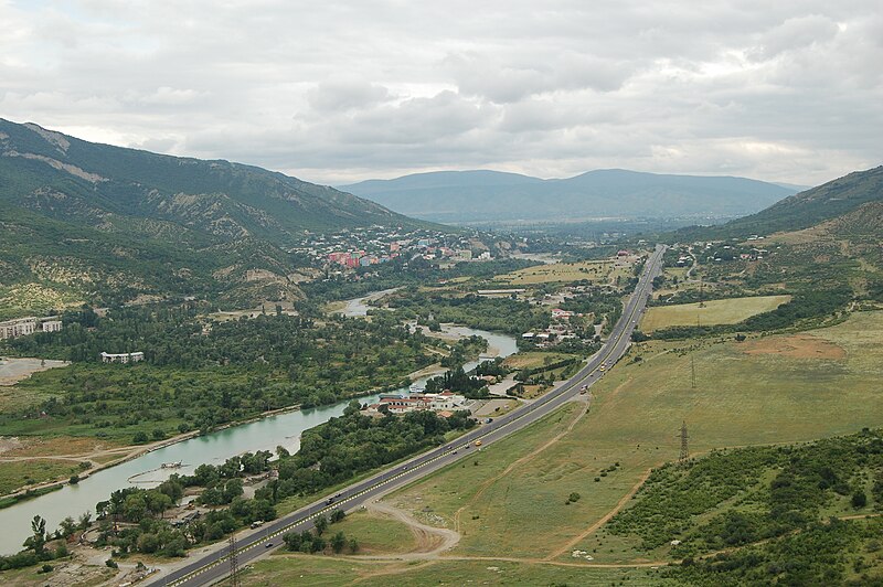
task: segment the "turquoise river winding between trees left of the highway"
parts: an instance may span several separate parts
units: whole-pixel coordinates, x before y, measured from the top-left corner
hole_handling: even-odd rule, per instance
[[[385,292],[374,292],[348,300],[344,313],[365,316],[368,302]],[[461,337],[472,334],[482,337],[488,340],[489,348],[496,350],[500,356],[509,356],[518,351],[515,339],[507,334],[449,324],[444,327],[444,332]],[[464,367],[468,371],[477,364],[474,361]],[[418,383],[422,382],[425,382],[425,378],[418,380]],[[407,391],[407,387],[400,389],[400,392]],[[374,402],[376,398],[376,395],[372,395],[359,399],[364,403]],[[31,534],[31,520],[34,515],[43,516],[46,520],[46,527],[52,532],[67,515],[76,519],[86,511],[94,514],[95,504],[108,499],[111,491],[135,484],[130,479],[138,481],[137,487],[148,488],[155,487],[172,473],[190,474],[199,465],[220,465],[230,457],[243,452],[275,451],[277,446],[295,452],[304,430],[342,415],[349,403],[350,399],[329,406],[286,412],[198,436],[99,471],[76,485],[64,485],[61,490],[2,509],[0,527],[7,530],[0,533],[0,553],[13,554],[22,548],[22,542]],[[160,469],[163,462],[177,461],[182,462],[181,468]]]

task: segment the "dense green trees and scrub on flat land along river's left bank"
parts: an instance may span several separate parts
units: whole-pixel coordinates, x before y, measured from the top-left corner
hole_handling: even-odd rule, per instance
[[[0,415],[3,434],[65,428],[124,441],[162,439],[269,409],[394,388],[408,373],[438,360],[428,349],[465,360],[485,344],[481,339],[449,345],[408,332],[391,312],[370,321],[281,314],[205,322],[196,308],[185,306],[130,308],[105,318],[84,310],[64,320],[61,332],[13,341],[21,353],[75,364],[22,382],[22,393],[35,402],[23,412]],[[146,360],[96,363],[100,351],[143,351]]]

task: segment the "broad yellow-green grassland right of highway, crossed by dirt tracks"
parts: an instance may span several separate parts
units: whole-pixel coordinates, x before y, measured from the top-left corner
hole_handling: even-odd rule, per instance
[[[637,537],[614,534],[606,522],[636,503],[632,495],[651,469],[677,460],[682,423],[692,457],[881,427],[880,340],[883,312],[873,311],[826,329],[745,342],[727,337],[636,344],[593,388],[587,412],[584,404],[568,404],[475,459],[385,498],[419,523],[459,534],[449,551],[393,561],[280,554],[254,565],[243,580],[671,583],[666,566],[681,557],[668,543],[643,549]],[[874,505],[836,503],[826,514],[873,516]],[[851,523],[854,530],[863,522]]]

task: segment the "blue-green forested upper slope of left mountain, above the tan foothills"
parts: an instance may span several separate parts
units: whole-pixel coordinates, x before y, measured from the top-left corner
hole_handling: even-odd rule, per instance
[[[287,244],[292,234],[414,225],[332,188],[228,161],[87,142],[0,119],[0,201],[82,222],[106,214],[164,220],[219,236]]]

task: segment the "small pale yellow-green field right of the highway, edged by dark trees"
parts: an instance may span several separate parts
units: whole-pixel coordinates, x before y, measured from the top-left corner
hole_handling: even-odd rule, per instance
[[[752,316],[775,310],[790,299],[790,296],[757,296],[711,300],[702,305],[655,306],[647,310],[640,329],[653,332],[669,327],[735,324]]]

